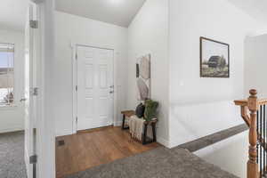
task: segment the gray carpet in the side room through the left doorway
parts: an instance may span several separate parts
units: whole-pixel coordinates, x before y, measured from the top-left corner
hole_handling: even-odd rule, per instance
[[[23,132],[0,134],[0,177],[27,178]]]

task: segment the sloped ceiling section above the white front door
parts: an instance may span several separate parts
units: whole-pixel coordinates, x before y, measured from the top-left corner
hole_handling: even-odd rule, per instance
[[[56,9],[128,27],[145,0],[56,0]]]

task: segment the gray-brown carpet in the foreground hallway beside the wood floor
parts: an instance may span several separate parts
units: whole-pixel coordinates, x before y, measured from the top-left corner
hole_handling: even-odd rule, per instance
[[[190,151],[158,148],[64,178],[237,178]]]

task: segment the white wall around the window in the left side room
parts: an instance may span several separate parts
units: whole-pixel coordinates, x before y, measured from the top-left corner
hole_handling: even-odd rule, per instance
[[[23,32],[0,29],[0,43],[15,44],[15,107],[0,107],[0,133],[24,130],[24,111],[20,104],[20,99],[24,95],[24,34]]]

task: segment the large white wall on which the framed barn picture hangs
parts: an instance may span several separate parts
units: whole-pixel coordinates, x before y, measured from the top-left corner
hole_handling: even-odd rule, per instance
[[[244,41],[263,29],[225,0],[170,0],[172,147],[242,122],[232,101],[244,97]],[[199,36],[230,44],[230,78],[199,77]]]

